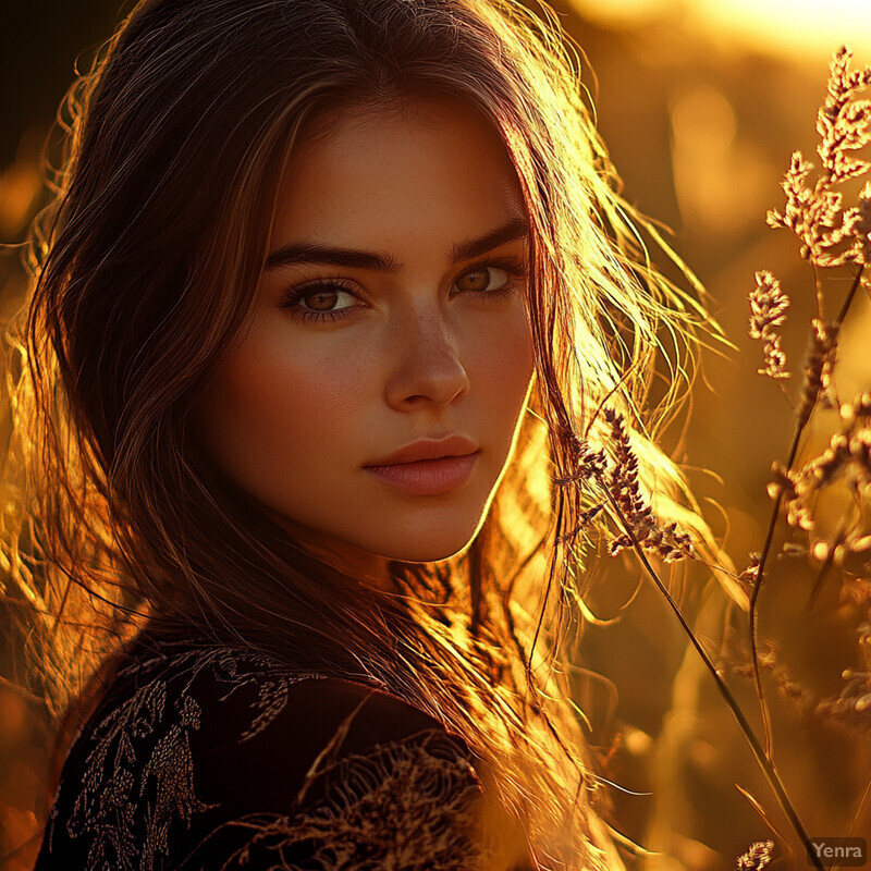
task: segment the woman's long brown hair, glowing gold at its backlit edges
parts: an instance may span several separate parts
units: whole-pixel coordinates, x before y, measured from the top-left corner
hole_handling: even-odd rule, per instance
[[[678,512],[645,396],[657,354],[684,348],[673,406],[701,314],[647,259],[637,228],[658,237],[617,193],[578,66],[555,15],[515,0],[143,0],[124,20],[68,95],[12,332],[5,543],[58,715],[146,622],[364,676],[490,761],[542,867],[613,867],[563,649],[589,519],[577,465],[608,400],[660,514]],[[187,421],[245,331],[303,124],[417,90],[474,107],[516,168],[536,390],[474,542],[392,563],[394,597],[290,540]]]

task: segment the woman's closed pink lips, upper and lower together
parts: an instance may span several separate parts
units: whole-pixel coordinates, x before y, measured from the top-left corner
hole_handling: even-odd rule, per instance
[[[384,483],[416,495],[450,493],[464,484],[478,462],[478,446],[465,436],[422,439],[367,464]]]

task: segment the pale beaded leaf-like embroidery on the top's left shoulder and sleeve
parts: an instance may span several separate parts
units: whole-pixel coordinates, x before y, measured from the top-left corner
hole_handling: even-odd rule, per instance
[[[150,679],[149,678],[150,675]],[[96,725],[83,732],[75,748],[85,753],[81,785],[65,820],[65,836],[88,844],[88,871],[158,871],[170,867],[170,842],[192,820],[217,807],[197,794],[191,737],[200,729],[203,708],[198,690],[205,680],[218,690],[222,703],[245,687],[254,692],[248,722],[237,741],[262,732],[282,711],[287,688],[304,678],[270,660],[225,648],[156,653],[118,675],[136,679],[136,690]],[[212,713],[212,715],[214,715]],[[49,818],[48,849],[52,854],[59,802]],[[37,864],[37,868],[40,866]]]

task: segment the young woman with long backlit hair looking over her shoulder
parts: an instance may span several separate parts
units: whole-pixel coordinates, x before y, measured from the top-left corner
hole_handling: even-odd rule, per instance
[[[143,0],[69,106],[13,361],[36,867],[619,867],[560,647],[588,441],[677,514],[641,408],[698,309],[555,19]]]

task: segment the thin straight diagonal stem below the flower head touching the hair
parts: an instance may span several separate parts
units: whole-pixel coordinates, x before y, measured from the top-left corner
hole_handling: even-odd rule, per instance
[[[789,824],[793,826],[793,830],[798,835],[801,845],[805,847],[806,852],[808,854],[808,859],[810,863],[818,869],[818,871],[825,871],[825,867],[823,866],[820,858],[817,856],[815,850],[813,849],[813,845],[811,844],[810,837],[808,836],[807,831],[805,830],[805,825],[801,822],[801,818],[798,815],[798,811],[796,811],[793,802],[789,800],[789,796],[786,793],[786,787],[781,780],[781,775],[777,774],[777,770],[774,766],[774,762],[771,759],[771,756],[762,748],[762,745],[759,741],[756,733],[753,732],[753,727],[748,722],[747,717],[741,710],[740,704],[738,704],[738,700],[733,695],[732,690],[726,685],[726,682],[723,679],[723,676],[720,674],[720,670],[714,665],[713,660],[708,655],[708,652],[701,646],[696,634],[692,631],[687,618],[684,616],[684,612],[680,610],[680,606],[675,602],[672,594],[668,592],[666,586],[662,582],[659,575],[651,566],[650,561],[647,557],[647,554],[641,550],[641,545],[638,543],[635,533],[623,515],[623,512],[617,505],[616,500],[614,499],[611,492],[606,493],[608,501],[614,511],[615,515],[619,518],[621,525],[623,526],[626,535],[633,542],[633,549],[635,550],[635,554],[638,557],[639,562],[641,563],[645,572],[647,573],[648,577],[653,581],[657,589],[662,593],[663,598],[668,604],[668,608],[672,609],[672,612],[677,617],[677,622],[680,624],[680,627],[686,633],[687,637],[689,638],[692,647],[696,648],[699,657],[701,657],[702,662],[704,663],[704,667],[711,673],[711,676],[716,684],[716,688],[720,691],[720,695],[723,697],[724,701],[728,706],[732,715],[735,717],[735,721],[738,724],[738,728],[740,729],[741,734],[744,735],[745,739],[750,746],[750,750],[753,753],[753,758],[757,761],[757,764],[762,770],[762,773],[765,775],[765,780],[769,783],[772,792],[774,793],[777,803],[783,810],[784,814],[786,815]]]

